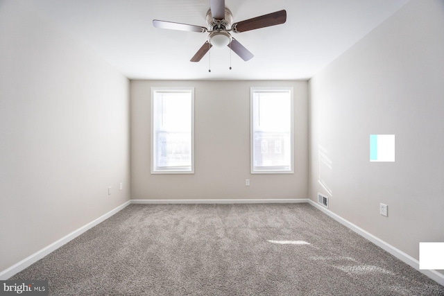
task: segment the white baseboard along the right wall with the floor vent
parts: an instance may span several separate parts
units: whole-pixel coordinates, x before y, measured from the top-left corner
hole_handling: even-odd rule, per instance
[[[316,207],[317,209],[320,209],[325,214],[332,217],[334,220],[338,221],[342,225],[345,225],[345,227],[352,229],[352,231],[354,231],[357,234],[359,234],[360,236],[363,236],[364,238],[368,239],[368,241],[371,241],[372,243],[374,243],[378,247],[381,247],[382,250],[388,252],[389,254],[392,254],[396,258],[400,259],[402,262],[409,264],[411,267],[415,268],[416,270],[418,270],[422,274],[427,275],[427,277],[429,277],[430,279],[433,279],[438,284],[444,286],[444,275],[441,274],[440,272],[437,272],[436,270],[420,270],[419,269],[419,261],[414,259],[409,254],[402,252],[398,248],[393,247],[393,245],[389,245],[385,241],[382,241],[382,239],[377,238],[373,234],[370,234],[370,232],[366,232],[361,227],[358,227],[357,225],[351,223],[350,221],[345,220],[341,216],[334,214],[329,209],[326,209],[325,207],[321,206],[321,204],[318,204],[317,202],[314,202],[313,200],[308,200],[308,202],[309,202],[309,204]]]

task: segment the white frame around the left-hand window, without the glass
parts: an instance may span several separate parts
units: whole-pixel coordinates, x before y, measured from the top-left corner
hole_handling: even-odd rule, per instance
[[[155,165],[155,110],[154,99],[157,92],[189,92],[191,94],[191,166],[189,169],[159,169]],[[194,174],[194,87],[151,87],[151,174]]]

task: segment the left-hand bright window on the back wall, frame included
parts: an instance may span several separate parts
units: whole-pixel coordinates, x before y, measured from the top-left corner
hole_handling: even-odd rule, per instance
[[[151,88],[151,173],[194,173],[194,88]]]

